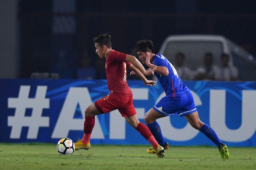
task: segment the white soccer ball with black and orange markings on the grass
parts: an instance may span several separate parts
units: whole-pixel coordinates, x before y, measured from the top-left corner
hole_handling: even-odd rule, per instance
[[[75,150],[75,143],[69,138],[62,138],[58,141],[57,151],[63,155],[71,155]]]

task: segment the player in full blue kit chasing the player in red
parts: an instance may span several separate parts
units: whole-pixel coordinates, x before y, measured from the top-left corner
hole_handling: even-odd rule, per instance
[[[154,74],[166,93],[166,96],[152,107],[145,114],[144,118],[159,145],[165,150],[169,148],[156,119],[179,114],[181,117],[185,116],[193,128],[202,132],[215,143],[222,158],[228,159],[229,152],[227,146],[221,142],[215,131],[209,125],[199,119],[193,96],[189,88],[179,78],[173,65],[163,55],[154,54],[154,46],[151,40],[138,41],[136,50],[143,64],[146,64],[150,68],[156,68]],[[135,73],[131,72],[130,75],[132,74]],[[155,153],[152,148],[149,148],[147,152]]]

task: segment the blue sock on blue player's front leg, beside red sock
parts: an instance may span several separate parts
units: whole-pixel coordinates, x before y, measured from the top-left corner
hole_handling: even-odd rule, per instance
[[[159,124],[156,121],[154,121],[151,124],[147,124],[147,127],[148,129],[150,129],[152,135],[154,136],[156,141],[159,143],[159,145],[161,145],[162,147],[165,146],[166,140],[165,138],[163,138]]]

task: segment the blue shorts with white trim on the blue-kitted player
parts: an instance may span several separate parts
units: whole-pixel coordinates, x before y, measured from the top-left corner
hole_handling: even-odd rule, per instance
[[[165,116],[172,116],[177,113],[182,117],[197,111],[190,90],[176,95],[175,97],[165,96],[153,108],[155,111]]]

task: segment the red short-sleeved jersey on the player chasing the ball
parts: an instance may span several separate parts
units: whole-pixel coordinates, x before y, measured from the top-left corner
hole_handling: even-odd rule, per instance
[[[126,81],[126,68],[131,63],[125,62],[125,60],[126,54],[111,50],[105,63],[109,91],[115,96],[132,96],[131,89]]]

